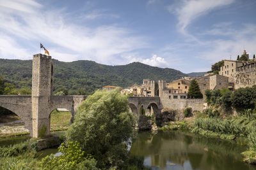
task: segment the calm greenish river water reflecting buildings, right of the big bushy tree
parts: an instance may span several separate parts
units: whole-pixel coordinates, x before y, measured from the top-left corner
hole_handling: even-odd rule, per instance
[[[144,164],[153,169],[255,169],[241,161],[244,150],[228,141],[180,132],[142,132],[131,146],[131,153],[145,157]]]

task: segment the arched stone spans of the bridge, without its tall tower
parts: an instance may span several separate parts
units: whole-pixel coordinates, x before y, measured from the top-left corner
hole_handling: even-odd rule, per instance
[[[51,102],[48,106],[45,106],[48,108],[48,113],[44,114],[44,119],[47,120],[47,125],[45,126],[50,127],[51,112],[56,108],[66,108],[71,112],[72,119],[74,119],[77,107],[86,97],[87,96],[51,96]],[[152,106],[154,112],[161,109],[159,97],[129,97],[128,101],[129,108],[132,113],[136,115],[140,115],[140,108],[147,109]],[[0,95],[0,106],[18,115],[25,123],[26,127],[28,127],[31,136],[33,136],[32,100],[30,95]],[[40,124],[40,121],[38,121],[38,124]],[[47,133],[50,132],[47,131]]]

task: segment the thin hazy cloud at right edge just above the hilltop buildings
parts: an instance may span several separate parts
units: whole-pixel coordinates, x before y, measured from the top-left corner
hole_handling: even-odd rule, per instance
[[[241,55],[245,49],[250,53],[250,57],[256,53],[256,25],[245,24],[241,25],[240,29],[230,29],[222,27],[216,31],[207,31],[207,34],[212,36],[222,36],[223,32],[228,32],[228,39],[215,39],[212,41],[204,41],[205,46],[209,49],[200,54],[200,58],[217,62],[223,59],[236,60],[237,55]]]

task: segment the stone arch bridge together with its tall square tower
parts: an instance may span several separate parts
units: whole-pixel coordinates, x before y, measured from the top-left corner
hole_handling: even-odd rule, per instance
[[[40,137],[43,129],[50,134],[51,112],[56,108],[66,108],[76,115],[77,106],[87,96],[52,96],[53,65],[51,56],[33,55],[32,95],[1,95],[0,106],[16,113],[28,127],[30,135]],[[132,113],[140,115],[140,110],[152,108],[160,110],[159,97],[129,97]]]

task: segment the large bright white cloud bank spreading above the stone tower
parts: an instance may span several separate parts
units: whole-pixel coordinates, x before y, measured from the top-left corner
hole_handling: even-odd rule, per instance
[[[43,42],[53,58],[54,54],[60,54],[65,56],[63,59],[66,61],[92,59],[111,64],[116,56],[147,46],[146,38],[132,36],[131,30],[124,27],[78,25],[72,23],[72,19],[65,10],[47,10],[45,6],[32,0],[6,2],[8,1],[0,3],[0,22],[2,23],[0,31],[8,35],[9,42],[12,42],[8,43],[8,48],[12,49],[13,53],[1,53],[1,57],[22,59],[20,56],[33,51],[29,49],[28,44],[32,46],[34,43],[33,48],[37,49],[38,44]],[[20,10],[24,6],[26,8]],[[88,18],[99,17],[96,15],[100,14],[95,13],[94,17]],[[20,44],[24,47],[17,46],[17,39],[19,42],[24,42]],[[0,41],[0,46],[4,46],[3,43],[4,41]]]

